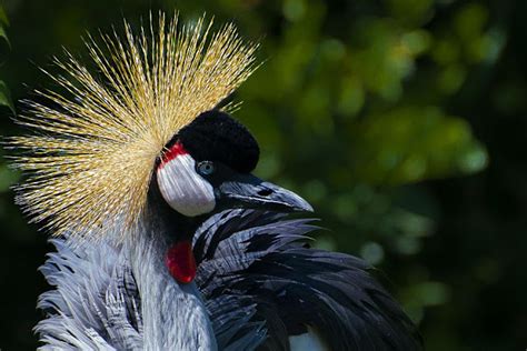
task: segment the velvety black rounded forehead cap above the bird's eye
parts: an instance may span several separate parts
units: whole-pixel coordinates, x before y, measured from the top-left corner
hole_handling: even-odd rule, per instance
[[[219,161],[242,173],[252,171],[260,156],[249,130],[218,110],[198,116],[179,131],[177,139],[196,161]]]

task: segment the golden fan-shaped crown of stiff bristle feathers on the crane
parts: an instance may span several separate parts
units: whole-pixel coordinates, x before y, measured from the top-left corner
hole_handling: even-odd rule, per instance
[[[37,133],[8,142],[26,151],[14,157],[27,173],[16,190],[32,221],[46,220],[54,234],[131,229],[167,142],[253,71],[257,46],[243,43],[232,24],[210,33],[212,21],[178,29],[177,18],[161,13],[157,34],[150,18],[137,34],[125,22],[125,40],[101,34],[98,46],[90,38],[97,73],[69,53],[56,60],[66,74],[50,77],[69,97],[38,91],[52,107],[30,102],[17,120]]]

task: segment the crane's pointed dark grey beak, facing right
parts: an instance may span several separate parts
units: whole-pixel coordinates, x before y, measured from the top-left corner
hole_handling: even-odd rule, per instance
[[[277,212],[307,211],[312,207],[302,198],[252,174],[237,174],[218,188],[219,202],[226,207],[258,208]]]

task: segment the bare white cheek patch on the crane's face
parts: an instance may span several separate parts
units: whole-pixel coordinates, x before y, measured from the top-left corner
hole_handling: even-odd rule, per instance
[[[213,188],[196,172],[196,161],[190,154],[179,154],[163,162],[157,176],[165,201],[179,213],[196,217],[213,210]]]

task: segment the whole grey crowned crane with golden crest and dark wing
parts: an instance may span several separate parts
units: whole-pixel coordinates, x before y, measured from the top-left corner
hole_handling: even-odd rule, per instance
[[[56,249],[41,350],[422,349],[372,268],[312,248],[312,207],[252,174],[230,99],[257,43],[160,12],[86,48],[91,67],[66,51],[44,70],[59,88],[7,142],[16,201]]]

